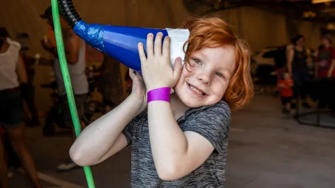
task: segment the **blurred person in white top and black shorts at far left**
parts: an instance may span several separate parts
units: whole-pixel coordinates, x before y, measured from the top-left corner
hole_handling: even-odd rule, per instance
[[[34,187],[42,187],[38,181],[34,161],[24,143],[24,111],[20,96],[20,84],[27,84],[27,72],[20,55],[20,44],[9,38],[5,28],[0,28],[0,124],[8,134],[11,146],[20,158]],[[0,183],[8,185],[8,169],[5,160],[3,138],[0,138]]]

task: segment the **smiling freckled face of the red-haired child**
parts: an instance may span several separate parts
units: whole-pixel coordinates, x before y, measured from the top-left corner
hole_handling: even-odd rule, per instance
[[[202,48],[185,63],[174,91],[188,107],[219,102],[235,70],[233,47]],[[188,71],[190,70],[190,71]]]

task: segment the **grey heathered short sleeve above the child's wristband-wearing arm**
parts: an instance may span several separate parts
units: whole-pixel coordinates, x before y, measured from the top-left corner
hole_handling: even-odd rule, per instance
[[[186,117],[182,130],[204,136],[217,152],[222,153],[226,151],[230,121],[230,107],[226,102],[218,102]]]

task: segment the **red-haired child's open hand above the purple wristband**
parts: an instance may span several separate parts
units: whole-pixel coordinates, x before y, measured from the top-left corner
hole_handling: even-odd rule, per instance
[[[157,33],[154,42],[154,35],[149,33],[147,36],[147,57],[144,54],[142,43],[138,44],[140,53],[142,76],[147,92],[156,88],[173,88],[181,75],[181,58],[174,62],[174,68],[170,63],[170,37],[165,37],[163,42],[163,33]]]

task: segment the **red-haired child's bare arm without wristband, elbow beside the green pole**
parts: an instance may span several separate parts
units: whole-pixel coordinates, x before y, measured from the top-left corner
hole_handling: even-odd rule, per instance
[[[133,93],[118,107],[87,126],[70,148],[70,157],[80,166],[91,166],[128,145],[131,139],[131,120],[147,107],[142,77],[130,70]],[[128,125],[127,125],[128,124]],[[121,133],[124,128],[125,133]]]

